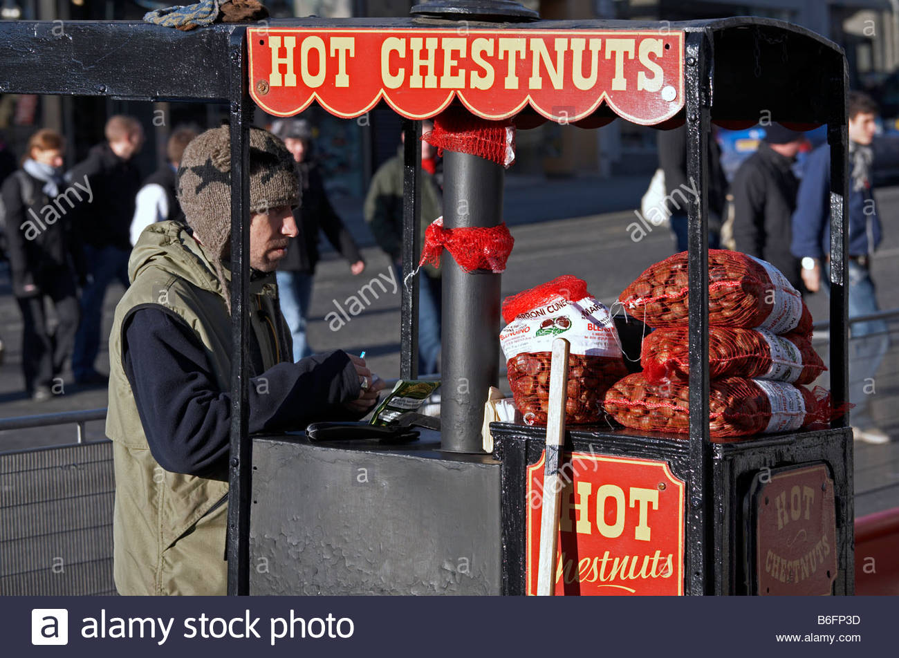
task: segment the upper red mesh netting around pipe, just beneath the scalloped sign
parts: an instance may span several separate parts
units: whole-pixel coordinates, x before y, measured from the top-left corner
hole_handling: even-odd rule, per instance
[[[450,107],[434,117],[434,129],[422,136],[438,152],[444,148],[483,157],[508,167],[515,160],[515,128],[512,120],[491,121],[465,108]]]

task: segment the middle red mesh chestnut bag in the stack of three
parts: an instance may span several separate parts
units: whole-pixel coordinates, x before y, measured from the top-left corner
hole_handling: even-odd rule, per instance
[[[640,365],[646,380],[687,378],[690,373],[689,333],[686,328],[656,329],[643,340]],[[775,379],[811,384],[824,367],[808,336],[779,336],[764,329],[708,327],[708,377]]]

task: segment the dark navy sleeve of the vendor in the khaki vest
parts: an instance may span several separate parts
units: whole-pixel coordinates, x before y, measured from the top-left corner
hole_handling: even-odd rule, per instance
[[[173,473],[202,475],[228,456],[231,396],[221,391],[196,333],[182,318],[140,308],[125,327],[124,367],[150,453]],[[359,378],[343,351],[279,363],[250,379],[251,433],[303,430],[346,420],[343,402],[359,396]]]

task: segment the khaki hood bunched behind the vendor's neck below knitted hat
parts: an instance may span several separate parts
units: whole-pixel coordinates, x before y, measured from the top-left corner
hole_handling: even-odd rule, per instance
[[[154,266],[190,281],[200,289],[224,296],[209,254],[180,222],[157,222],[143,230],[138,244],[131,250],[129,281],[133,283],[142,271]],[[223,270],[227,277],[227,268]]]

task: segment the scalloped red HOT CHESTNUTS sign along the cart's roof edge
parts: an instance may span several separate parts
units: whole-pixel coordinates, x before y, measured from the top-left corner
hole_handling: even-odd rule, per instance
[[[251,28],[250,93],[291,116],[318,102],[351,118],[384,99],[407,119],[453,98],[484,119],[530,106],[560,123],[606,102],[651,125],[683,107],[683,32]]]

